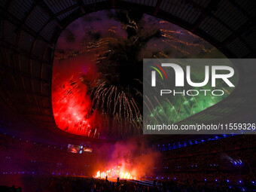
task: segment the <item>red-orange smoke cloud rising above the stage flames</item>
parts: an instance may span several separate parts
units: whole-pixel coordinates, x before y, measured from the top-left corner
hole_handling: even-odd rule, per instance
[[[116,142],[113,146],[104,145],[97,154],[101,154],[98,159],[96,172],[107,172],[111,169],[121,172],[129,172],[132,178],[139,179],[141,176],[152,175],[154,167],[159,159],[159,153],[152,148],[148,148],[142,139],[130,139],[129,141]]]

